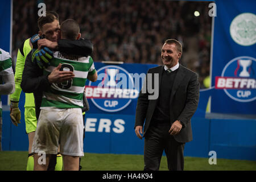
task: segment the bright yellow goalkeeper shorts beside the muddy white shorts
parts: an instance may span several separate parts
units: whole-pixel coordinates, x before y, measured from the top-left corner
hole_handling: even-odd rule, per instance
[[[25,107],[24,118],[26,124],[26,133],[31,133],[36,130],[36,120],[35,107]]]

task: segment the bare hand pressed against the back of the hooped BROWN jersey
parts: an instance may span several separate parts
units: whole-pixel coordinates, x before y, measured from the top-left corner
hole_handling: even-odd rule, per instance
[[[75,77],[74,73],[71,71],[60,71],[61,64],[53,69],[51,74],[48,75],[49,83],[61,83]]]

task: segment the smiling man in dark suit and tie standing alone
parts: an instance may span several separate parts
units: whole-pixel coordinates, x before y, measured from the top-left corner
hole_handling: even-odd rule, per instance
[[[191,118],[199,102],[199,81],[195,72],[179,64],[181,54],[177,40],[166,40],[161,53],[164,65],[148,70],[139,93],[135,134],[145,138],[144,170],[159,170],[163,150],[169,170],[184,169],[183,151],[192,140]],[[158,97],[145,89],[150,85]]]

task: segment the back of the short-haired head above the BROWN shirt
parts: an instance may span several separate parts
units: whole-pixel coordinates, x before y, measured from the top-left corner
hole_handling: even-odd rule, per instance
[[[60,34],[63,39],[74,40],[80,33],[79,24],[73,19],[67,19],[60,25]]]

